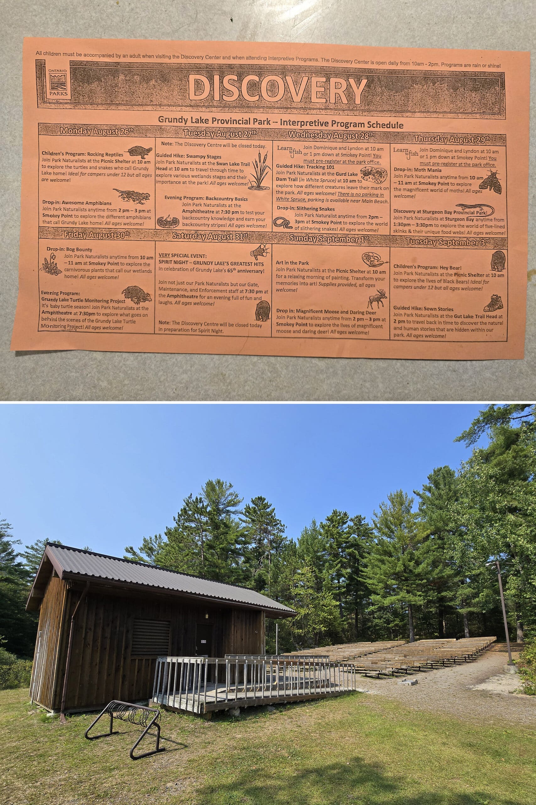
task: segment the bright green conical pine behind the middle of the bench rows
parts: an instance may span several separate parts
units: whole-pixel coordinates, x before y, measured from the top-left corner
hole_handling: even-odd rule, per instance
[[[427,601],[428,585],[435,575],[432,541],[423,542],[413,498],[399,489],[374,512],[376,542],[368,558],[366,583],[376,607],[402,605],[407,613],[410,642],[415,641],[415,608]]]

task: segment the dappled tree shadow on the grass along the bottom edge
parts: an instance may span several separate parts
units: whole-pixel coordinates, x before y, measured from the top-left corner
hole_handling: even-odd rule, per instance
[[[452,774],[455,774],[453,770]],[[258,775],[258,776],[256,776]],[[458,793],[415,790],[415,778],[390,777],[381,766],[354,758],[350,764],[331,763],[314,769],[265,774],[251,770],[227,784],[215,782],[196,791],[203,805],[520,805],[487,791]]]

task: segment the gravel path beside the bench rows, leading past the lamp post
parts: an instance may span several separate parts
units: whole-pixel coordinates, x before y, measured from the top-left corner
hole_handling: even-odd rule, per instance
[[[513,652],[513,658],[518,652]],[[398,679],[362,677],[362,690],[387,696],[407,707],[444,712],[462,720],[480,723],[497,721],[519,726],[536,726],[536,696],[513,694],[520,687],[518,675],[504,673],[508,654],[499,646],[487,651],[474,663],[464,663],[437,671],[417,672],[418,684],[400,685]],[[478,687],[474,687],[478,686]]]

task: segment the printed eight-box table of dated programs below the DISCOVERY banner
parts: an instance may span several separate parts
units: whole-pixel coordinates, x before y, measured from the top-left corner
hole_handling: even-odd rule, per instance
[[[39,125],[39,329],[506,340],[505,135],[294,134]]]

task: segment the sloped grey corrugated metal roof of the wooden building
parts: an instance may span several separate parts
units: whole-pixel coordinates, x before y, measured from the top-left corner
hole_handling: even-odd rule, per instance
[[[93,551],[83,551],[80,548],[47,543],[43,560],[46,558],[50,559],[61,578],[78,576],[84,580],[110,580],[122,584],[141,585],[159,588],[162,591],[211,598],[215,601],[235,602],[248,607],[280,613],[279,617],[294,614],[293,609],[289,609],[288,606],[273,601],[272,598],[263,596],[255,590],[237,587],[235,584],[224,584],[222,581],[188,576],[186,573],[158,568],[152,564],[133,562],[130,559],[120,559],[117,556],[107,556]],[[42,567],[43,561],[39,571]],[[34,587],[39,578],[39,571],[35,577]],[[34,588],[32,588],[32,592],[34,592]]]

